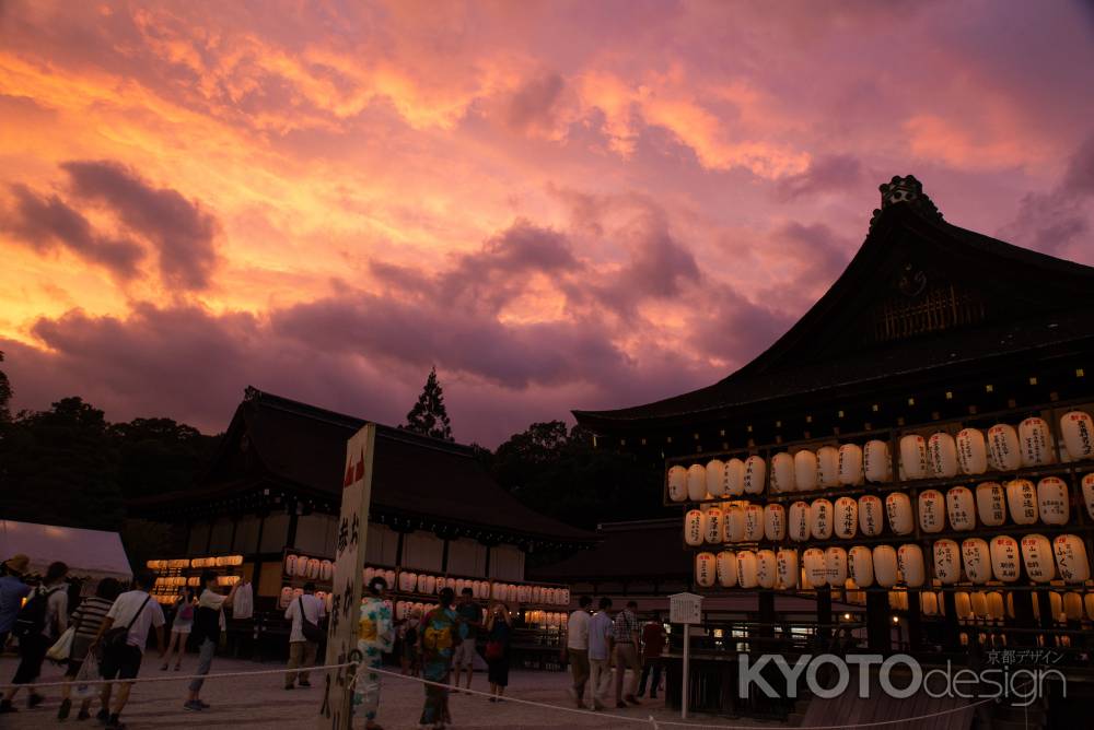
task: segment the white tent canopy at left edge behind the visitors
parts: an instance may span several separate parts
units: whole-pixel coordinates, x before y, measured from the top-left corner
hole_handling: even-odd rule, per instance
[[[0,520],[0,562],[18,553],[31,558],[28,572],[35,575],[61,561],[73,578],[132,578],[117,532]]]

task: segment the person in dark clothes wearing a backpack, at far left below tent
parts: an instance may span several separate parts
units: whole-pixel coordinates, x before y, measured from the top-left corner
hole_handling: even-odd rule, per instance
[[[65,577],[68,566],[61,562],[50,563],[42,585],[34,589],[26,603],[15,616],[12,633],[19,639],[19,668],[13,685],[33,684],[42,673],[42,662],[46,650],[58,636],[68,628],[68,585]],[[0,700],[0,713],[14,713],[12,700],[19,686],[12,686]],[[27,707],[37,707],[45,697],[31,690]]]

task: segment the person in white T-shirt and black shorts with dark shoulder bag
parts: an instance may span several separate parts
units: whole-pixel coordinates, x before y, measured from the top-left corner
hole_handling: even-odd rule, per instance
[[[155,627],[155,646],[162,658],[165,651],[163,644],[163,609],[152,599],[149,591],[155,582],[155,575],[142,570],[133,576],[132,589],[114,600],[114,605],[106,612],[98,634],[91,643],[89,651],[102,648],[102,659],[98,672],[104,680],[135,680],[140,671],[140,662],[144,658],[144,647],[148,645],[148,634]],[[103,685],[101,696],[103,707],[98,710],[98,721],[108,730],[125,730],[125,725],[118,719],[126,703],[132,682],[118,684],[118,693],[114,696],[110,707],[110,695],[114,685]]]

